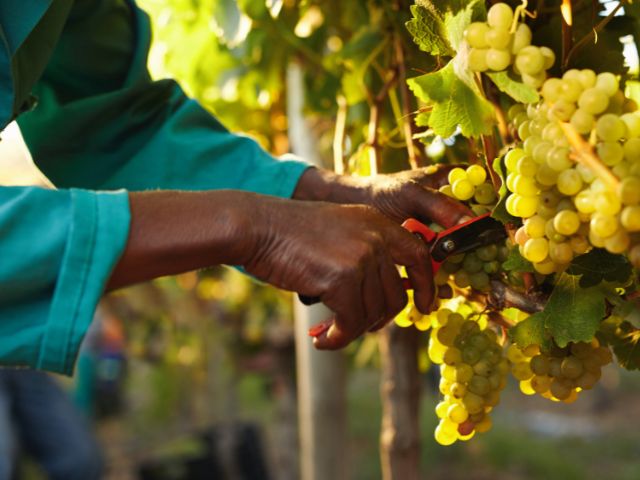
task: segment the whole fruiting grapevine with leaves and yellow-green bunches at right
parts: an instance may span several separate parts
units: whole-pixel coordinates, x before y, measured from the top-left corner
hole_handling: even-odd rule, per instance
[[[536,45],[537,13],[526,2],[471,2],[454,14],[465,28],[449,38],[449,63],[408,79],[424,106],[419,124],[472,152],[455,159],[440,192],[491,212],[508,233],[442,264],[435,283],[452,295],[433,313],[410,302],[396,318],[430,332],[442,445],[491,428],[508,376],[525,395],[572,403],[614,354],[640,367],[628,319],[640,268],[640,112],[621,71],[573,67],[566,48]],[[467,96],[443,98],[443,85]],[[507,318],[508,307],[518,313]]]

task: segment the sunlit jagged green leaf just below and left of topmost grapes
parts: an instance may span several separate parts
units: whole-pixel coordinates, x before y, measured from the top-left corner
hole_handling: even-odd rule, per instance
[[[407,84],[416,97],[433,106],[429,126],[436,135],[450,137],[458,126],[466,137],[491,131],[493,106],[458,78],[453,62],[437,72],[410,78]]]

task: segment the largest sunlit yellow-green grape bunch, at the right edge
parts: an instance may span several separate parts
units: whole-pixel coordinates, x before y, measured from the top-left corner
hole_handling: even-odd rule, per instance
[[[520,252],[536,270],[562,270],[591,246],[629,252],[640,265],[640,114],[611,73],[569,70],[542,87],[543,101],[515,106],[509,116],[522,141],[505,156],[506,208],[524,219],[516,233]],[[561,122],[595,145],[611,169],[613,189],[582,163]]]

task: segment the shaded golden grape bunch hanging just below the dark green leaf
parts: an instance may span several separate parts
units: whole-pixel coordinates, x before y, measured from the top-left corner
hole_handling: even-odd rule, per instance
[[[595,338],[564,348],[553,345],[548,351],[541,351],[538,345],[524,349],[510,345],[507,358],[523,393],[565,403],[573,403],[580,391],[593,388],[602,367],[613,360],[611,350]]]

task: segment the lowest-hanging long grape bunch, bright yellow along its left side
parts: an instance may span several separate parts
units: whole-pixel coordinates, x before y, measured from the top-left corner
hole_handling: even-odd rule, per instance
[[[435,439],[440,445],[469,440],[491,428],[489,413],[500,402],[509,372],[497,334],[471,318],[440,309],[434,318],[429,358],[440,364],[440,419]]]

